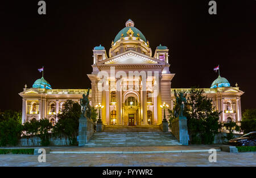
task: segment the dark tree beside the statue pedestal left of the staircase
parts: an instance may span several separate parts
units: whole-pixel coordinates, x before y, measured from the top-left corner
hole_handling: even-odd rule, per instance
[[[64,104],[64,109],[61,110],[61,114],[57,115],[59,121],[53,128],[53,133],[59,136],[66,136],[69,139],[69,144],[77,145],[80,115],[81,106],[79,103],[67,100]]]

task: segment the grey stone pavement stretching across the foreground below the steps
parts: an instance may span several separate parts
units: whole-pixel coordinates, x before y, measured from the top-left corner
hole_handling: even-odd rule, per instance
[[[46,163],[36,155],[0,155],[0,166],[253,166],[255,152],[217,152],[217,162],[210,163],[208,152],[172,154],[47,154]]]

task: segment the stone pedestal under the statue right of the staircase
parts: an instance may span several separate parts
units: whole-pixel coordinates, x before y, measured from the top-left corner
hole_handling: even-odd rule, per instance
[[[174,134],[181,144],[188,145],[189,137],[186,117],[180,116],[172,121],[172,134]]]

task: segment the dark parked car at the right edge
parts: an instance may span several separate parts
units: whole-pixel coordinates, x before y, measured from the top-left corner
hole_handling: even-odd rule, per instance
[[[229,140],[232,146],[256,146],[256,131]]]

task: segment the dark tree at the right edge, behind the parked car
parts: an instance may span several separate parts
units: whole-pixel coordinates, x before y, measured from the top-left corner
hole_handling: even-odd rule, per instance
[[[256,109],[246,109],[242,114],[241,130],[243,133],[256,131]]]

